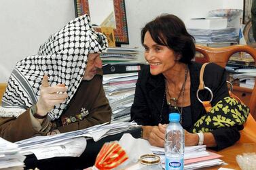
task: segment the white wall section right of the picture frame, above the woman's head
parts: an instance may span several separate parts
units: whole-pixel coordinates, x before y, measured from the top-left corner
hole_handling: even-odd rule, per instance
[[[175,14],[186,24],[190,18],[206,17],[209,10],[242,7],[243,0],[158,0],[150,3],[147,0],[126,0],[130,45],[141,47],[141,41],[138,39],[141,28],[162,13]]]

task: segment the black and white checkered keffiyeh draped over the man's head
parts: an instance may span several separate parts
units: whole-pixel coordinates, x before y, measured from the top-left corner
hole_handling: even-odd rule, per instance
[[[68,87],[67,100],[49,112],[52,120],[58,119],[83,79],[88,54],[106,51],[106,37],[94,31],[87,14],[71,20],[39,47],[37,55],[16,64],[3,95],[0,116],[17,117],[36,104],[47,72],[50,86],[65,83]]]

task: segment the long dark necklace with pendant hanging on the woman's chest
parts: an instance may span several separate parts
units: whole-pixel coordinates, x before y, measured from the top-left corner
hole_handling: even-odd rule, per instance
[[[183,82],[183,85],[181,87],[181,91],[179,91],[179,95],[178,95],[178,98],[171,98],[171,95],[170,95],[170,91],[168,89],[168,85],[167,85],[167,82],[166,82],[166,79],[165,79],[165,84],[166,84],[166,96],[168,94],[168,97],[170,98],[169,101],[167,101],[167,104],[169,106],[173,106],[176,110],[179,111],[179,108],[178,108],[178,101],[179,101],[179,98],[181,97],[181,94],[182,94],[182,103],[181,103],[181,112],[179,111],[179,114],[182,115],[182,112],[183,112],[183,102],[184,102],[184,93],[185,93],[185,84],[186,84],[186,81],[187,81],[187,75],[188,75],[188,68],[186,66],[185,68],[185,79],[184,79],[184,82]],[[182,119],[181,119],[182,120]]]

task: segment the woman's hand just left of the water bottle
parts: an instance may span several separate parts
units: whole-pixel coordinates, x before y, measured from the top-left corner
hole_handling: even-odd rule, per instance
[[[152,146],[164,147],[164,134],[167,125],[143,126],[143,139],[148,140]]]

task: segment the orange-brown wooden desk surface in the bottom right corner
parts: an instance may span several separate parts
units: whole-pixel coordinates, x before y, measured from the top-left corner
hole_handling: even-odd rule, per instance
[[[211,150],[212,152],[215,152]],[[223,157],[221,157],[221,160],[223,160],[225,163],[228,163],[228,165],[218,166],[213,169],[219,169],[219,167],[225,167],[225,168],[232,168],[232,169],[240,169],[238,163],[236,163],[236,155],[243,154],[246,152],[256,152],[256,144],[239,144],[236,143],[234,146],[230,146],[228,148],[225,148],[219,152],[216,152],[217,154],[221,154]],[[255,165],[256,169],[256,165]]]

